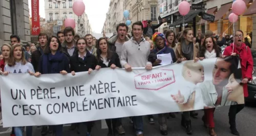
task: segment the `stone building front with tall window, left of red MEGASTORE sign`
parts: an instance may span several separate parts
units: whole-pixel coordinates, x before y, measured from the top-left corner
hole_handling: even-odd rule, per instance
[[[0,46],[9,43],[12,34],[18,35],[22,43],[30,42],[28,0],[3,0],[0,6]]]

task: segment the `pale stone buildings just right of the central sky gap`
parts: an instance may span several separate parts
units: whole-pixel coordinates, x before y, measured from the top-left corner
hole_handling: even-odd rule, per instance
[[[115,8],[115,5],[120,5]],[[126,20],[132,23],[142,20],[152,20],[154,24],[158,23],[158,1],[157,0],[111,0],[110,8],[106,14],[106,19],[102,28],[102,33],[116,33],[116,25]],[[128,10],[130,16],[123,17],[123,11]],[[118,17],[116,17],[118,16]],[[131,32],[129,25],[128,32]]]

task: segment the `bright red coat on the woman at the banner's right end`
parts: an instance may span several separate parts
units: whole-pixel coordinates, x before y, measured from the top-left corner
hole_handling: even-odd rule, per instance
[[[233,50],[233,43],[230,46],[227,46],[224,50],[224,56],[230,56]],[[253,70],[253,60],[251,55],[251,49],[245,43],[242,43],[240,48],[234,46],[234,53],[237,53],[240,57],[241,69],[242,69],[242,78],[247,77],[248,80],[252,79],[252,70]],[[247,84],[243,85],[244,97],[248,97]]]

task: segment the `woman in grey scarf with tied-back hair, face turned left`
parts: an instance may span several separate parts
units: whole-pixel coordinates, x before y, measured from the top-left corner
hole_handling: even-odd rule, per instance
[[[176,49],[177,63],[181,63],[186,60],[194,60],[199,52],[199,44],[193,44],[193,31],[190,28],[184,29],[181,36],[178,38],[179,42]],[[193,93],[192,95],[195,95]],[[189,112],[183,112],[181,118],[181,125],[186,128],[186,133],[191,134],[191,120],[189,118]]]

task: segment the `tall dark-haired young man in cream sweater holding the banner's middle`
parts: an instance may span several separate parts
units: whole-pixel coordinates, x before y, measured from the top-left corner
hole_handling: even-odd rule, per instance
[[[142,22],[133,23],[132,29],[133,37],[123,43],[120,63],[127,72],[132,71],[133,67],[145,67],[151,70],[152,63],[147,61],[150,56],[150,43],[142,37]],[[142,116],[132,118],[137,136],[143,136]]]

